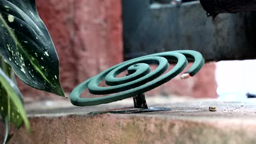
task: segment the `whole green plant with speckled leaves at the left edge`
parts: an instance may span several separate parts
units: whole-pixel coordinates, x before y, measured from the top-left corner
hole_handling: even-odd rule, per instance
[[[59,58],[48,30],[40,19],[35,0],[0,1],[0,113],[5,123],[30,131],[22,95],[14,73],[28,86],[65,97],[59,80]]]

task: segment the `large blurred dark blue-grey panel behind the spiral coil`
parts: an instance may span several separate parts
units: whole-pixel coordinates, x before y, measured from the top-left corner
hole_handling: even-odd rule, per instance
[[[223,14],[213,22],[199,1],[180,7],[152,7],[150,0],[122,2],[125,60],[133,56],[129,53],[184,49],[201,52],[208,62],[256,58],[256,11]]]

